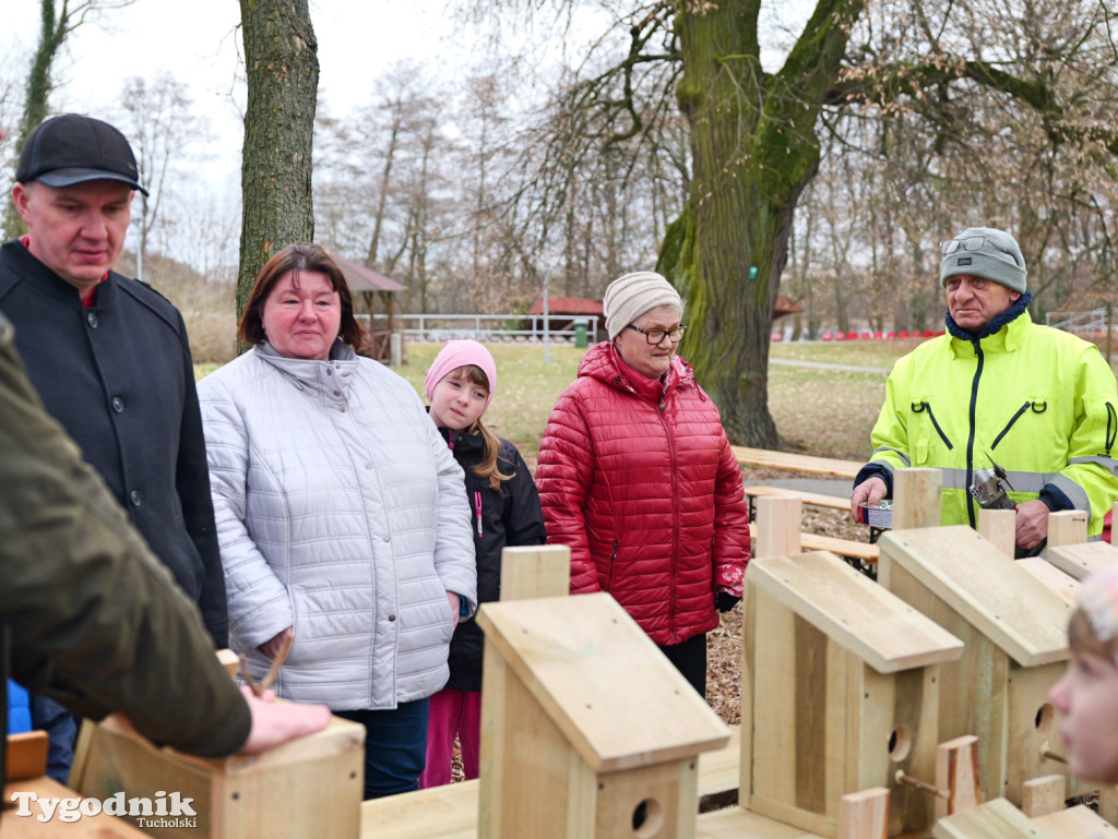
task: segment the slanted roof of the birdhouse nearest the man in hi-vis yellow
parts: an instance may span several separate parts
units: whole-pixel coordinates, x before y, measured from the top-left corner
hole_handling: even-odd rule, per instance
[[[1018,665],[1068,658],[1072,607],[966,525],[892,531],[878,545],[887,587],[897,563]]]

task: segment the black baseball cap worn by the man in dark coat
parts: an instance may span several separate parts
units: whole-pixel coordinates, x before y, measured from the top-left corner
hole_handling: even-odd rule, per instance
[[[120,181],[145,196],[132,146],[101,120],[63,114],[44,120],[28,135],[16,170],[19,183],[39,181],[56,189],[87,181]]]

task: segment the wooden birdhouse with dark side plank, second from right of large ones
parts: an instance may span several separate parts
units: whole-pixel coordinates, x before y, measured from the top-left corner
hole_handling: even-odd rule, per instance
[[[931,824],[944,662],[963,642],[826,552],[746,572],[739,801],[836,837],[843,795],[890,791],[888,833]]]

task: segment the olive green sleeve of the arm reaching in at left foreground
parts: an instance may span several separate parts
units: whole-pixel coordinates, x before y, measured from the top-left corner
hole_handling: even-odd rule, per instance
[[[44,411],[0,315],[0,622],[12,675],[159,744],[237,751],[252,724],[196,607]]]

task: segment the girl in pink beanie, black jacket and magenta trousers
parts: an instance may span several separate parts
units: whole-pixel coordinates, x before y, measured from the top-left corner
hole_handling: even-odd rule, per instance
[[[543,512],[532,475],[517,447],[482,422],[496,390],[496,364],[476,341],[448,341],[424,380],[430,418],[465,474],[473,513],[477,602],[501,597],[501,551],[505,545],[541,545]],[[427,768],[420,789],[451,782],[454,738],[462,744],[467,779],[479,774],[483,636],[473,619],[451,639],[451,679],[430,697]]]

